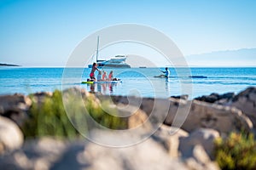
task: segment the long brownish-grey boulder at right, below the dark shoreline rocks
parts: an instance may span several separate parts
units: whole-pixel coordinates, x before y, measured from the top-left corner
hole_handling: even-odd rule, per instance
[[[177,100],[172,99],[165,123],[172,125],[175,116],[176,120],[179,117],[184,120],[181,127],[189,133],[200,127],[212,128],[224,134],[241,129],[249,132],[253,128],[252,122],[240,110],[197,100],[193,100],[190,105],[189,102],[177,103]]]

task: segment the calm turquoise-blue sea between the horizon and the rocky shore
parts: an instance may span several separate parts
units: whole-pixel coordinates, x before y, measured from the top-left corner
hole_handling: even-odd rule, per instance
[[[0,94],[32,94],[76,86],[102,94],[158,98],[189,94],[192,99],[212,93],[238,93],[247,87],[256,86],[256,68],[171,68],[172,77],[168,79],[154,77],[161,74],[159,68],[112,70],[114,77],[122,79],[123,82],[81,84],[81,81],[86,81],[89,77],[89,68],[0,67]]]

